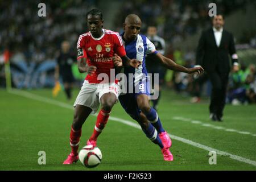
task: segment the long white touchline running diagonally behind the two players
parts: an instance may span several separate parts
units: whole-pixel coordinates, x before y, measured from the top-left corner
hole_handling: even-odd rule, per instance
[[[18,96],[23,96],[23,97],[27,97],[27,98],[30,98],[30,99],[33,99],[33,100],[37,100],[37,101],[41,101],[41,102],[46,102],[46,103],[48,103],[48,104],[52,104],[52,105],[57,105],[57,106],[60,106],[60,107],[64,107],[64,108],[66,108],[66,109],[73,109],[73,106],[71,106],[71,105],[69,105],[69,104],[65,104],[65,103],[60,102],[60,101],[55,101],[55,100],[52,100],[52,99],[50,99],[50,98],[38,96],[38,95],[36,95],[36,94],[32,94],[32,93],[29,93],[29,92],[26,92],[26,91],[13,89],[13,90],[10,90],[10,91],[8,91],[8,92],[9,92],[9,93],[12,93],[12,94],[16,94],[16,95],[18,95]],[[96,114],[94,114],[94,116],[96,116]],[[131,121],[128,121],[128,120],[125,120],[125,119],[121,119],[121,118],[117,118],[117,117],[109,117],[109,119],[111,119],[112,121],[117,121],[117,122],[123,123],[123,124],[125,124],[125,125],[134,127],[134,128],[136,128],[136,129],[141,129],[141,126],[139,126],[137,123],[134,123],[134,122],[131,122]],[[185,120],[187,121],[187,119],[185,119]],[[199,122],[199,123],[200,123],[200,122]],[[215,149],[215,148],[211,148],[211,147],[208,147],[208,146],[204,146],[203,144],[196,143],[196,142],[193,142],[193,141],[188,140],[188,139],[185,139],[185,138],[177,137],[176,135],[171,135],[171,134],[169,134],[169,136],[170,136],[172,139],[178,140],[178,141],[183,142],[183,143],[187,143],[187,144],[189,144],[189,145],[191,145],[191,146],[195,146],[195,147],[197,147],[197,148],[201,148],[201,149],[207,150],[207,151],[216,151],[216,153],[217,153],[218,155],[229,156],[229,158],[231,158],[231,159],[238,160],[238,161],[240,161],[240,162],[243,162],[243,163],[247,163],[247,164],[251,164],[251,165],[253,165],[253,166],[256,166],[256,161],[254,161],[254,160],[242,158],[241,156],[229,154],[228,152],[224,152],[224,151],[217,150],[217,149]]]

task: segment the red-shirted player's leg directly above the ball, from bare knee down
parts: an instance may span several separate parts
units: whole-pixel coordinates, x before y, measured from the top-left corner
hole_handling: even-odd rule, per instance
[[[96,125],[93,130],[92,136],[89,138],[87,144],[92,144],[93,146],[97,145],[98,135],[101,134],[101,131],[104,129],[106,123],[108,122],[110,112],[115,102],[117,101],[117,96],[114,93],[105,93],[100,98],[101,110],[98,113]]]

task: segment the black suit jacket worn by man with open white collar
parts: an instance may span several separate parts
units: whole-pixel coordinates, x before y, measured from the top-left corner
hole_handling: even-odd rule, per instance
[[[203,31],[196,51],[196,64],[201,65],[206,72],[229,73],[230,58],[236,53],[233,35],[223,30],[220,47],[217,47],[213,28]],[[232,59],[237,62],[237,59]]]

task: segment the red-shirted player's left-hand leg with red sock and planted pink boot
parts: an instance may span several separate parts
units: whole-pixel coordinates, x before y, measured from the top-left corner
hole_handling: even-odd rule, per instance
[[[90,107],[76,105],[69,138],[72,151],[63,164],[72,164],[73,162],[77,162],[77,160],[79,159],[77,151],[79,148],[79,142],[82,133],[82,125],[84,124],[85,120],[88,118],[91,112],[92,109],[90,109]]]

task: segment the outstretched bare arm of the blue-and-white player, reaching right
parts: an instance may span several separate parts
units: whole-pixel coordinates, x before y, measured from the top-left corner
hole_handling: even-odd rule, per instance
[[[161,55],[159,52],[150,56],[155,56],[155,59],[158,60],[160,63],[162,63],[164,67],[171,69],[173,71],[184,72],[188,74],[198,72],[199,75],[203,75],[204,73],[204,69],[202,67],[185,68],[175,63],[173,60],[168,59],[167,57]]]

